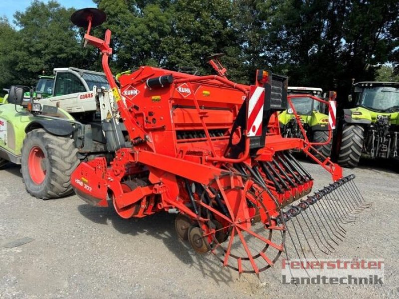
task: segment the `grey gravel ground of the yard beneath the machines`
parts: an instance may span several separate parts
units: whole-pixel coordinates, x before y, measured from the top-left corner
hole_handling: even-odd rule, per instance
[[[330,182],[321,167],[303,165],[316,187]],[[123,220],[75,195],[38,200],[11,165],[0,171],[0,299],[399,298],[399,174],[381,162],[345,172],[357,175],[373,206],[346,226],[347,237],[330,258],[385,259],[383,286],[282,285],[280,261],[259,278],[238,276],[179,241],[173,215]],[[4,247],[25,237],[33,241]]]

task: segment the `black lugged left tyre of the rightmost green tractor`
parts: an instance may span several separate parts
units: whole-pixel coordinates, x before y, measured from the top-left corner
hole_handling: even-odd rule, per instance
[[[360,125],[345,124],[339,146],[338,164],[354,168],[362,155],[365,129]]]

